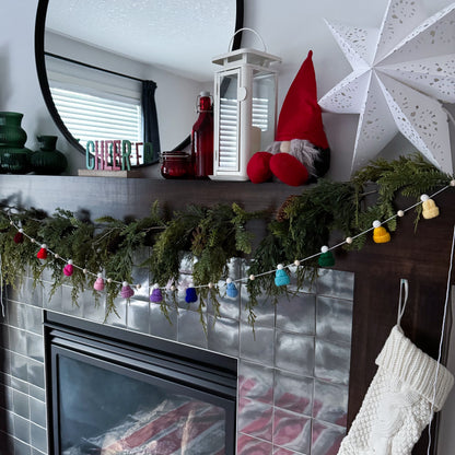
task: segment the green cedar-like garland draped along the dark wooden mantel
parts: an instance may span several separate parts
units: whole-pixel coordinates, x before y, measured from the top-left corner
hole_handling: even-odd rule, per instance
[[[287,200],[276,219],[271,213],[246,212],[237,203],[231,207],[190,206],[166,219],[155,202],[149,217],[139,220],[120,221],[110,217],[96,220],[79,219],[74,213],[58,209],[48,215],[36,209],[10,207],[10,200],[0,206],[0,254],[2,273],[7,284],[20,284],[27,267],[35,283],[40,280],[45,267],[50,268],[54,280],[51,292],[63,283],[72,285],[72,301],[77,305],[79,294],[85,289],[93,290],[96,276],[103,272],[113,282],[106,283],[106,317],[116,312],[115,300],[120,285],[118,281],[132,282],[133,267],[147,268],[160,287],[170,283],[177,287],[180,262],[185,256],[195,260],[192,277],[199,289],[199,310],[202,318],[208,299],[214,308],[223,291],[218,284],[228,278],[228,265],[233,257],[250,259],[249,272],[259,276],[248,280],[249,322],[255,322],[255,306],[260,295],[277,300],[288,292],[285,287],[276,287],[272,275],[261,272],[275,270],[277,265],[290,264],[318,253],[334,232],[355,236],[371,228],[374,220],[386,220],[396,213],[394,200],[398,194],[419,198],[432,188],[447,185],[452,177],[427,163],[421,155],[399,158],[395,161],[376,160],[359,171],[350,182],[337,183],[319,179],[305,187],[301,195]],[[373,189],[372,189],[373,188]],[[375,200],[371,201],[371,198]],[[416,223],[421,207],[417,206]],[[248,222],[261,219],[267,223],[267,234],[253,250],[253,233]],[[13,224],[11,224],[11,221]],[[63,275],[65,261],[48,259],[45,265],[36,258],[37,245],[30,241],[16,244],[13,241],[16,228],[33,238],[45,240],[47,247],[62,258],[71,258],[74,267],[71,277]],[[387,223],[396,230],[396,219]],[[360,249],[365,236],[355,238],[349,248]],[[142,264],[135,264],[138,253],[151,247],[150,257]],[[89,270],[91,273],[86,273]],[[296,269],[296,289],[317,273],[317,258],[302,264]],[[19,282],[18,282],[19,278]],[[115,282],[117,281],[117,282]],[[211,283],[210,287],[206,287]],[[100,293],[93,290],[94,302]],[[164,294],[161,304],[167,315],[168,304],[176,303],[176,290]]]

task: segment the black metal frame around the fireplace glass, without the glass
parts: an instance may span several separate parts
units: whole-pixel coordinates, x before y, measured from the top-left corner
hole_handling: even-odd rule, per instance
[[[49,455],[59,455],[60,355],[189,393],[225,411],[225,454],[235,454],[237,359],[122,328],[44,312]]]

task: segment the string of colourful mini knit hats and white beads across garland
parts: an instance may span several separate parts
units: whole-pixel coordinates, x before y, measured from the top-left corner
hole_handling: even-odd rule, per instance
[[[441,188],[440,190],[433,192],[432,195],[428,196],[428,195],[421,195],[420,200],[416,203],[413,203],[412,206],[409,206],[406,209],[402,210],[398,210],[396,212],[396,214],[389,217],[388,219],[384,220],[384,221],[380,221],[380,220],[375,220],[372,224],[372,226],[365,231],[362,231],[353,236],[348,236],[346,237],[342,242],[339,242],[332,246],[328,246],[328,245],[323,245],[320,247],[320,252],[315,253],[311,256],[307,256],[303,259],[295,259],[292,264],[288,264],[288,265],[282,265],[279,264],[277,266],[276,269],[272,270],[268,270],[268,271],[264,271],[258,275],[249,275],[248,277],[244,277],[244,278],[240,278],[236,280],[233,280],[231,278],[228,278],[225,281],[226,284],[226,296],[235,299],[238,294],[238,290],[235,285],[235,283],[242,283],[244,281],[248,281],[248,280],[255,280],[256,278],[259,277],[264,277],[267,275],[271,275],[271,273],[276,273],[275,277],[275,284],[277,287],[281,287],[281,285],[288,285],[290,283],[290,278],[289,275],[287,273],[285,269],[291,269],[291,267],[300,267],[303,262],[313,259],[315,257],[318,257],[318,265],[320,267],[331,267],[335,265],[335,258],[332,255],[332,250],[336,248],[339,248],[342,245],[346,244],[351,244],[355,238],[368,234],[369,232],[373,231],[373,241],[375,243],[386,243],[390,241],[390,234],[389,232],[384,228],[384,224],[388,223],[389,221],[394,220],[395,218],[402,218],[406,212],[408,212],[409,210],[412,210],[413,208],[418,207],[419,205],[422,205],[422,217],[427,220],[430,220],[432,218],[435,218],[440,214],[439,208],[435,205],[433,198],[435,196],[438,196],[439,194],[445,191],[446,189],[451,188],[451,187],[455,187],[455,179],[451,180],[450,184],[443,188]],[[14,235],[14,243],[19,244],[24,242],[24,238],[28,238],[31,243],[38,243],[35,238],[31,237],[30,235],[27,235],[24,230],[19,226],[11,218],[10,215],[10,224],[12,226],[14,226],[18,232]],[[66,259],[62,258],[58,253],[52,252],[51,249],[49,249],[46,245],[46,243],[39,243],[39,250],[36,254],[36,257],[38,259],[42,260],[46,260],[48,258],[48,256],[51,255],[55,259],[57,260],[62,260],[66,262],[65,267],[63,267],[63,273],[67,277],[71,277],[74,272],[74,269],[79,269],[81,270],[84,275],[86,276],[92,276],[92,277],[96,277],[95,282],[93,284],[93,288],[96,291],[103,291],[104,287],[105,287],[105,282],[107,283],[116,283],[116,284],[121,284],[121,290],[120,290],[120,296],[124,299],[130,299],[131,296],[135,295],[135,291],[132,288],[139,290],[141,288],[141,284],[131,284],[128,283],[128,281],[117,281],[117,280],[113,280],[112,278],[106,278],[103,276],[103,273],[98,272],[98,273],[94,273],[90,270],[88,270],[86,268],[80,267],[75,264],[73,264],[72,259]],[[198,300],[198,295],[197,295],[197,289],[202,289],[202,288],[209,288],[212,289],[214,288],[214,284],[209,282],[208,284],[200,284],[200,285],[196,285],[196,287],[189,287],[186,289],[186,295],[185,295],[185,301],[187,303],[191,303],[191,302],[196,302]],[[162,291],[172,291],[174,292],[177,288],[175,287],[175,284],[172,284],[171,287],[163,287],[161,288],[159,284],[154,283],[151,285],[151,294],[150,294],[150,301],[152,303],[160,303],[163,301],[163,294]]]

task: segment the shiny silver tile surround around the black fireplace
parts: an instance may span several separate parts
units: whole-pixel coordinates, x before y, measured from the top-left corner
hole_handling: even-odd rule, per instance
[[[245,273],[240,259],[230,267],[233,278]],[[184,283],[190,280],[187,271],[183,267]],[[18,292],[8,289],[3,295],[0,452],[5,454],[48,453],[43,310],[104,319],[104,305],[94,307],[91,292],[79,306],[71,304],[66,285],[49,300],[50,277],[43,278],[36,289],[28,278]],[[149,303],[149,277],[138,269],[136,281],[143,283],[139,295],[129,304],[119,299],[120,317],[112,315],[107,324],[238,359],[237,455],[253,448],[264,455],[337,452],[347,424],[353,273],[320,270],[304,292],[276,306],[264,302],[256,312],[255,335],[243,310],[245,288],[236,300],[221,301],[219,319],[208,306],[206,336],[196,307],[183,294],[170,324],[159,305]]]

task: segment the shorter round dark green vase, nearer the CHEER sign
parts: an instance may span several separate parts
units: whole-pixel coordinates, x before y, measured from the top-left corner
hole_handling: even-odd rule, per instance
[[[58,175],[68,165],[67,158],[56,150],[57,136],[38,136],[39,150],[32,154],[32,168],[36,174]]]

